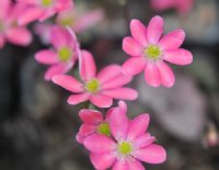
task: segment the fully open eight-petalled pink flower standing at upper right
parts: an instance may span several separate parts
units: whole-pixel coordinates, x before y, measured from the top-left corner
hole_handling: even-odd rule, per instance
[[[130,22],[132,37],[123,39],[123,49],[131,56],[123,65],[124,72],[137,75],[145,70],[145,79],[152,87],[172,87],[175,81],[172,69],[164,63],[188,65],[193,61],[191,52],[180,48],[185,38],[183,30],[175,30],[162,36],[163,19],[154,16],[148,27],[140,21]],[[162,36],[162,37],[161,37]]]

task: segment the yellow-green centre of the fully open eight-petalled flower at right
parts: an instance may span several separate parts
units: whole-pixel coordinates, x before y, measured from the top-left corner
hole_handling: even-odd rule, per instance
[[[157,45],[149,45],[145,50],[143,50],[146,57],[150,59],[159,59],[162,52]]]

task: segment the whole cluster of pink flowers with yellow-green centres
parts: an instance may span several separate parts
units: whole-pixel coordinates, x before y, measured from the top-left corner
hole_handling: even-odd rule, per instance
[[[180,10],[187,9],[183,1],[177,2]],[[154,7],[158,3],[162,8],[176,5],[173,0],[165,3],[154,0]],[[110,65],[96,73],[92,54],[81,49],[76,33],[100,21],[103,13],[97,10],[87,15],[77,15],[72,7],[71,0],[16,0],[16,3],[0,0],[0,47],[5,39],[19,45],[30,44],[32,35],[25,25],[58,14],[57,24],[47,25],[45,34],[38,29],[38,33],[43,33],[53,47],[37,52],[35,59],[49,66],[45,80],[72,93],[68,98],[69,104],[89,101],[96,107],[111,107],[113,99],[134,101],[138,92],[125,87],[134,76],[145,71],[145,80],[149,86],[171,88],[175,77],[166,61],[181,66],[193,61],[192,53],[181,48],[185,38],[184,31],[175,30],[162,36],[164,21],[157,15],[148,26],[139,20],[131,20],[131,36],[123,39],[123,49],[130,58],[123,66]],[[79,78],[66,75],[73,69],[76,63],[79,64]],[[81,110],[79,116],[83,124],[77,140],[90,151],[96,170],[111,167],[113,170],[145,170],[140,161],[165,161],[165,149],[154,144],[155,138],[147,133],[149,114],[143,113],[129,120],[124,101],[108,109],[105,118],[101,112],[88,109]]]

